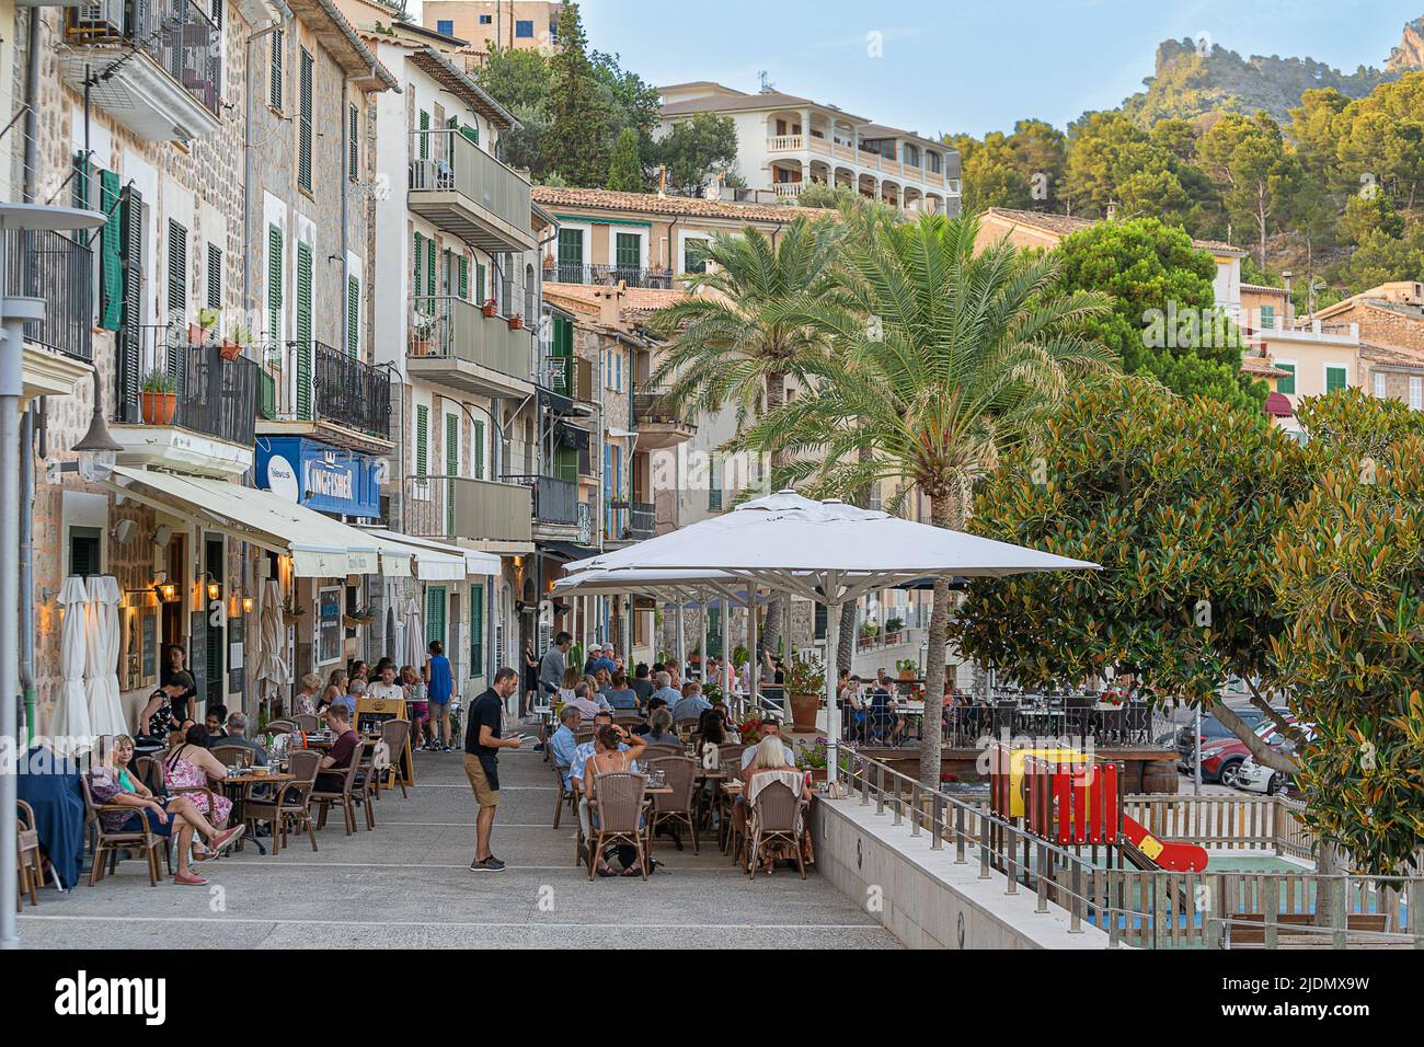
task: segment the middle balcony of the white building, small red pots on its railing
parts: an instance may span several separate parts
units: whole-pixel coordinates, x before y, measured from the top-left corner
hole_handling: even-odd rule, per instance
[[[487,316],[474,302],[410,301],[407,370],[477,396],[527,396],[534,389],[534,338],[523,319]]]

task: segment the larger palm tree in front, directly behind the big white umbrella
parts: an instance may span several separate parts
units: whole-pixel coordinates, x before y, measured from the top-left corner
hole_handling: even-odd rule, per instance
[[[782,308],[832,352],[805,365],[807,392],[769,410],[736,442],[776,449],[785,473],[830,491],[877,481],[930,504],[930,523],[961,528],[974,480],[998,454],[1031,440],[1071,380],[1111,366],[1079,322],[1104,296],[1055,289],[1058,264],[1007,241],[975,255],[977,218],[923,215],[847,238],[837,266],[842,303]],[[863,453],[869,450],[869,453]],[[934,585],[930,635],[944,637],[948,581]],[[944,644],[931,642],[927,694],[943,694]],[[940,718],[924,718],[920,781],[940,781]]]

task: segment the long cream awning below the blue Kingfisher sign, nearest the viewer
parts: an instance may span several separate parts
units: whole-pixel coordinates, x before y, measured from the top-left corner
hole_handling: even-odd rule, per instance
[[[302,578],[335,578],[346,574],[400,575],[399,547],[380,557],[382,543],[356,527],[292,504],[272,491],[242,487],[226,480],[179,476],[131,466],[114,466],[105,487],[154,509],[191,514],[201,524],[242,541],[292,557],[292,573]],[[404,556],[404,574],[410,557]]]

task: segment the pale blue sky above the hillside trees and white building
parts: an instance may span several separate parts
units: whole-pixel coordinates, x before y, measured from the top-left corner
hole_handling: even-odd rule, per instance
[[[758,73],[787,94],[924,135],[1057,127],[1112,108],[1159,41],[1383,67],[1424,0],[582,0],[590,44],[654,84]],[[876,34],[876,36],[873,36]],[[873,54],[879,51],[879,54]]]

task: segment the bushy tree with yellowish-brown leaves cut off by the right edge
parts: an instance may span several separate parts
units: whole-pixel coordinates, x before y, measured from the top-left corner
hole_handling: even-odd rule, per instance
[[[1424,419],[1358,389],[1297,413],[1314,483],[1274,536],[1272,648],[1314,728],[1302,818],[1356,868],[1401,873],[1424,839]]]

